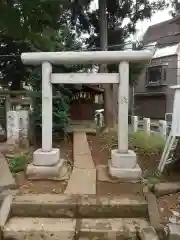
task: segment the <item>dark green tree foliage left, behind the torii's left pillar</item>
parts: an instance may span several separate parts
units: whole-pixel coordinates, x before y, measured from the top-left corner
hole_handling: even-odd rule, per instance
[[[41,68],[24,66],[22,52],[67,51],[81,47],[71,25],[68,1],[3,0],[0,2],[0,84],[11,90],[30,85],[33,100],[31,122],[41,125]],[[77,66],[58,66],[53,71],[77,71]],[[68,123],[71,89],[57,85],[53,94],[53,128],[64,129]],[[32,129],[33,129],[32,128]],[[34,132],[35,133],[35,132]]]

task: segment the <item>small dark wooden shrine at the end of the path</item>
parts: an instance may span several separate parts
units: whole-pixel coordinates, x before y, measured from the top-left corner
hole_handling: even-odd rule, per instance
[[[71,121],[94,121],[95,96],[104,90],[95,85],[82,85],[75,89],[70,106]]]

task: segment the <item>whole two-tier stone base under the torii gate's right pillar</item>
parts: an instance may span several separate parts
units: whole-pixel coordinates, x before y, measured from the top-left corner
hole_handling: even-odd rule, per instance
[[[117,149],[111,151],[108,162],[109,173],[113,178],[127,182],[140,182],[142,171],[137,164],[135,152],[118,153]]]

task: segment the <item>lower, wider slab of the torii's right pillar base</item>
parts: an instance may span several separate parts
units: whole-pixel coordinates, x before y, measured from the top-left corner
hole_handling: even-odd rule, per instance
[[[140,182],[142,171],[138,164],[134,168],[115,168],[112,166],[111,161],[108,162],[109,174],[113,178],[121,179],[125,182]]]

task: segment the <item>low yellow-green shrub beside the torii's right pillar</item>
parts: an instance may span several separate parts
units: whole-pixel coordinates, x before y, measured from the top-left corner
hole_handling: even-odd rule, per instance
[[[129,147],[143,155],[157,155],[162,153],[165,140],[159,135],[148,135],[144,131],[130,134]]]

